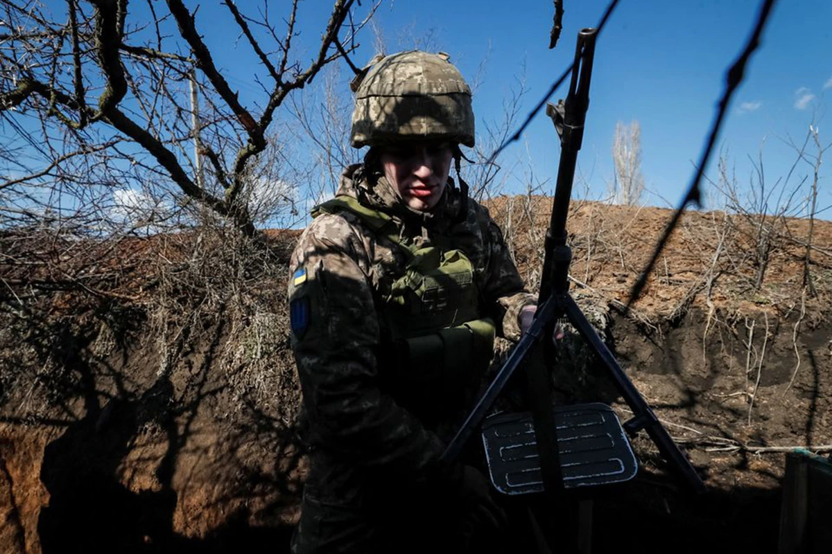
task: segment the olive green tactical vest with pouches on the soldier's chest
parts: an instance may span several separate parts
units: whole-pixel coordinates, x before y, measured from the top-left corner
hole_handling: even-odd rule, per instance
[[[423,420],[442,419],[460,395],[477,390],[493,355],[495,326],[481,317],[473,263],[442,241],[418,248],[399,237],[388,214],[351,196],[319,204],[312,216],[344,211],[397,245],[406,260],[389,290],[376,292],[380,386]]]

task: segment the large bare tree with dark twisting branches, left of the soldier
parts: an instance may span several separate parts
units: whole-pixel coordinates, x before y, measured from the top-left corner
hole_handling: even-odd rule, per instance
[[[124,190],[145,212],[156,205],[149,210],[156,219],[208,208],[254,233],[250,170],[278,109],[349,55],[377,6],[334,0],[319,45],[303,60],[295,54],[299,0],[276,17],[268,2],[246,5],[246,13],[224,0],[216,9],[225,26],[183,0],[56,3],[0,0],[0,121],[12,136],[0,152],[0,224],[73,221],[97,233],[109,221],[102,216],[123,208],[114,193]],[[215,61],[208,24],[213,34],[230,29],[225,40],[239,39],[250,52],[259,73],[240,76],[248,90]],[[197,178],[200,158],[204,180]]]

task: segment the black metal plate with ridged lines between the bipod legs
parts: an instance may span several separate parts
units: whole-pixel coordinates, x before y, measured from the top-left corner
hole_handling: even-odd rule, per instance
[[[623,483],[638,462],[618,417],[607,404],[552,408],[565,488]],[[543,480],[532,414],[498,414],[483,423],[483,445],[494,488],[504,494],[540,493]]]

